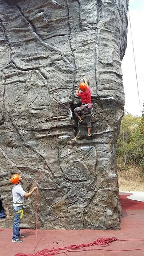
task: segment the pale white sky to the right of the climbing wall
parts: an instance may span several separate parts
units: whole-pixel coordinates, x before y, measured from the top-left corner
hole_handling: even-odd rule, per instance
[[[125,92],[125,111],[131,113],[133,116],[141,116],[140,109],[141,111],[143,110],[144,103],[144,0],[129,0],[129,13],[135,53],[140,104],[133,57],[131,29],[128,15],[127,49],[122,60],[123,85]]]

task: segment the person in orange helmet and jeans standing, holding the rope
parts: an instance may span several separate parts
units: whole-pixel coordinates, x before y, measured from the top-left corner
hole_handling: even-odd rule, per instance
[[[23,215],[23,203],[24,198],[28,198],[33,192],[37,189],[35,186],[29,193],[26,193],[22,186],[19,184],[22,183],[22,178],[18,174],[14,174],[11,177],[11,183],[14,184],[12,189],[12,197],[13,197],[13,211],[15,213],[14,223],[13,223],[13,237],[12,242],[23,242],[21,239],[24,237],[23,234],[20,234],[20,219]],[[23,183],[22,183],[23,184]]]

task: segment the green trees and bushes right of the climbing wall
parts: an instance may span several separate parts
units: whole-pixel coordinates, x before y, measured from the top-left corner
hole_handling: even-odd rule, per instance
[[[132,165],[134,168],[138,167],[141,176],[144,176],[143,116],[142,118],[133,117],[127,113],[122,118],[117,141],[117,163],[123,164],[124,169],[128,165]]]

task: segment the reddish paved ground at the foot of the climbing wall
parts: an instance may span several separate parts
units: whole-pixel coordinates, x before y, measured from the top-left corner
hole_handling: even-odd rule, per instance
[[[0,256],[31,256],[43,249],[52,249],[54,246],[66,247],[72,244],[92,243],[98,238],[116,237],[110,246],[86,247],[83,251],[69,251],[60,255],[68,256],[143,256],[144,255],[144,202],[142,194],[138,198],[135,192],[121,192],[120,199],[123,208],[121,230],[29,230],[22,229],[25,235],[22,243],[12,243],[12,229],[0,229]],[[140,192],[141,193],[141,192]],[[127,198],[130,195],[134,199]],[[137,196],[137,197],[136,197]],[[143,193],[144,198],[144,193]],[[136,200],[137,199],[137,200]],[[132,241],[127,241],[132,239]],[[139,240],[138,240],[139,239]],[[142,240],[143,239],[143,240]],[[136,241],[138,240],[138,241]],[[92,249],[92,250],[91,250]],[[137,249],[137,250],[135,250]],[[105,250],[105,251],[104,251]],[[61,252],[61,251],[60,251]],[[52,252],[51,252],[52,253]],[[38,256],[59,255],[51,253],[37,254]]]

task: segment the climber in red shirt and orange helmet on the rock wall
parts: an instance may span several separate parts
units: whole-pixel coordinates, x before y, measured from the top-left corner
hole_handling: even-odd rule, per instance
[[[92,116],[91,116],[91,108],[92,108],[91,91],[90,91],[90,88],[88,86],[88,83],[87,83],[87,80],[85,77],[83,78],[83,80],[84,80],[84,82],[81,82],[79,84],[79,88],[76,91],[76,95],[81,98],[82,105],[80,107],[76,107],[74,109],[74,113],[78,117],[79,123],[82,123],[82,121],[83,121],[81,115],[82,114],[86,115],[87,129],[88,129],[87,137],[91,137],[92,136],[90,133],[91,132],[91,119],[92,119]],[[79,92],[80,90],[82,92]]]

